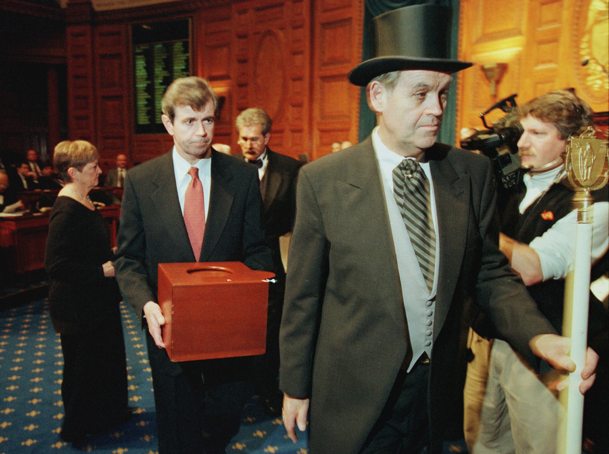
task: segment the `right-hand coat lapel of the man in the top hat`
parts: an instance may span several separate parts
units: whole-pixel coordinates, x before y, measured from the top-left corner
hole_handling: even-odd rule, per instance
[[[433,156],[432,153],[428,155]],[[470,175],[459,175],[448,158],[429,159],[438,217],[440,264],[434,316],[434,340],[446,320],[455,291],[467,237]]]

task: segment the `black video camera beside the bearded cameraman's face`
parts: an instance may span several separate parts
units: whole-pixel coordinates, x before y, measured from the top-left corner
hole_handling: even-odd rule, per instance
[[[508,96],[479,114],[487,129],[477,131],[473,136],[461,141],[461,148],[480,150],[493,161],[495,176],[503,189],[516,187],[527,172],[527,169],[521,169],[521,159],[518,156],[518,139],[524,130],[516,114],[516,96],[518,95]],[[489,127],[484,116],[495,109],[501,109],[507,115]]]

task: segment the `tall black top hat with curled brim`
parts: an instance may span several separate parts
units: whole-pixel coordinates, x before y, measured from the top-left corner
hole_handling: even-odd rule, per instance
[[[414,5],[396,9],[373,19],[376,57],[349,74],[354,85],[366,86],[378,75],[404,69],[457,72],[472,63],[451,60],[449,38],[451,9],[439,5]]]

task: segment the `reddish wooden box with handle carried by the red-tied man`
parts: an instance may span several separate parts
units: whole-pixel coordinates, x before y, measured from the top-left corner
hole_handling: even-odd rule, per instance
[[[163,343],[172,361],[261,355],[269,282],[241,262],[158,264]]]

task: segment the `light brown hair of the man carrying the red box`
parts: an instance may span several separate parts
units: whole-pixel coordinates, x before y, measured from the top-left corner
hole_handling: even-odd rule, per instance
[[[203,110],[209,101],[214,105],[214,115],[217,115],[218,98],[211,89],[209,82],[201,77],[181,77],[175,79],[167,87],[161,102],[161,109],[173,123],[176,107],[191,107],[192,110]]]

